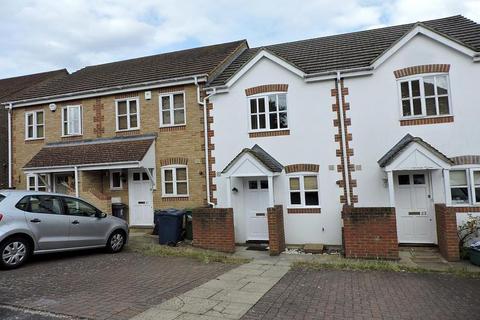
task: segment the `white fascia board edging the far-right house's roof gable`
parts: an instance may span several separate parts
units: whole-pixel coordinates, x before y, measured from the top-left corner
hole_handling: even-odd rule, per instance
[[[464,45],[453,41],[435,31],[432,31],[428,28],[425,28],[421,25],[416,26],[413,28],[409,33],[404,35],[398,42],[396,42],[390,49],[388,49],[386,52],[384,52],[380,57],[378,57],[376,60],[374,60],[372,66],[374,69],[378,68],[382,63],[384,63],[388,58],[390,58],[392,55],[394,55],[400,48],[402,48],[407,42],[409,42],[413,37],[415,37],[418,34],[423,34],[424,36],[438,41],[454,50],[457,50],[469,57],[471,57],[475,61],[475,55],[477,54],[474,50],[465,47]]]

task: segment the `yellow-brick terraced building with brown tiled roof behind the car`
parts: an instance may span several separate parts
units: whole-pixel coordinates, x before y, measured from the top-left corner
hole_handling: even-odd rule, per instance
[[[245,41],[90,66],[10,97],[10,186],[80,196],[105,212],[206,204],[202,87]]]

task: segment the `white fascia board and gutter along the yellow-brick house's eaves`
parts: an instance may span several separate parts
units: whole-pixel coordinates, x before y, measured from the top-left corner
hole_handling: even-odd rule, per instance
[[[2,105],[9,105],[11,103],[13,108],[20,108],[20,107],[34,106],[39,104],[49,104],[49,103],[62,102],[62,101],[68,101],[68,100],[95,98],[95,97],[109,96],[109,95],[114,95],[119,93],[128,93],[128,92],[134,92],[134,91],[151,90],[156,88],[164,88],[164,87],[171,87],[171,86],[177,86],[177,85],[194,84],[195,78],[197,78],[197,82],[207,81],[206,75],[188,76],[188,77],[182,77],[177,79],[168,79],[165,81],[162,80],[162,81],[153,81],[153,82],[148,82],[148,83],[138,84],[138,85],[129,85],[125,87],[119,86],[114,88],[74,92],[74,93],[58,95],[58,96],[48,96],[48,97],[42,97],[38,99],[35,98],[30,100],[4,102],[2,103]]]

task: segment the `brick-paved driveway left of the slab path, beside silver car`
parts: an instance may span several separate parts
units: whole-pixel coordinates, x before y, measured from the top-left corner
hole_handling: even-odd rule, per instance
[[[128,319],[231,268],[132,252],[39,256],[20,269],[0,271],[0,304],[90,319]]]

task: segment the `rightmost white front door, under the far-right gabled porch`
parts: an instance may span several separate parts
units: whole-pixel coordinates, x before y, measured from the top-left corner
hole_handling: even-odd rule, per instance
[[[397,232],[400,243],[436,243],[436,223],[427,171],[395,176]]]

